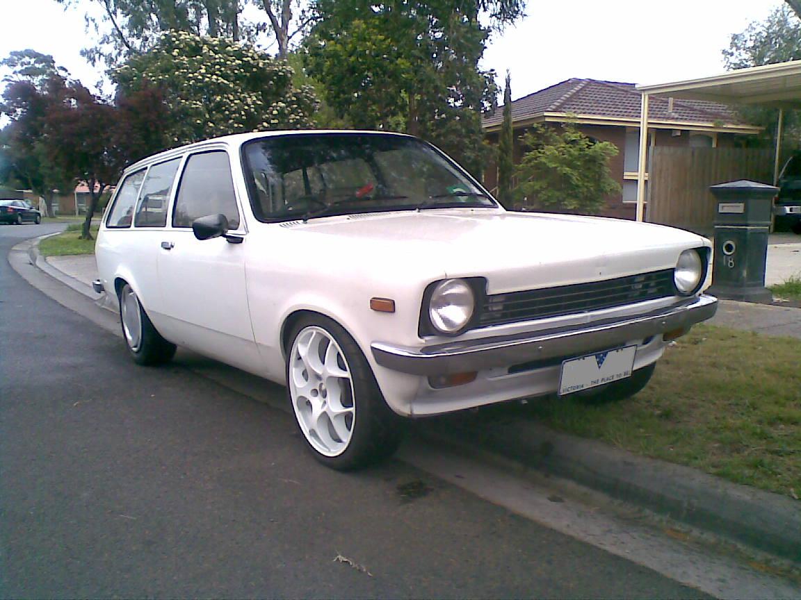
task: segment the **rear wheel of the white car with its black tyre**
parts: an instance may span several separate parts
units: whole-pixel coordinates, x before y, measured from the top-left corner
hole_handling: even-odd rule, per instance
[[[167,342],[156,331],[131,286],[123,282],[123,285],[119,286],[117,297],[123,340],[134,362],[143,366],[158,366],[170,362],[175,356],[175,344]],[[138,334],[135,332],[137,322]]]

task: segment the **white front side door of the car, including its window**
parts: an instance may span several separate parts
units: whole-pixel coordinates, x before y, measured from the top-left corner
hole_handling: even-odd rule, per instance
[[[239,244],[225,238],[199,240],[195,218],[224,214]],[[244,245],[225,150],[191,154],[175,194],[171,228],[159,244],[159,287],[167,323],[165,337],[233,366],[260,373],[245,286]]]

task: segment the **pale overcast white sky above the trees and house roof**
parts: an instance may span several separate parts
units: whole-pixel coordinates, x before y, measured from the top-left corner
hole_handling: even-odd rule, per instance
[[[0,0],[0,58],[33,48],[52,54],[74,78],[93,87],[103,73],[80,55],[91,45],[83,7],[92,3],[80,4],[65,11],[55,0]],[[659,83],[718,74],[731,34],[763,20],[780,4],[529,0],[528,16],[493,38],[482,66],[497,71],[499,85],[511,70],[513,98],[571,77]]]

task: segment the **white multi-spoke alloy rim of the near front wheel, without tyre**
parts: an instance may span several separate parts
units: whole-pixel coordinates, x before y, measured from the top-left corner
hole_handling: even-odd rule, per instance
[[[348,449],[356,426],[356,402],[348,361],[332,334],[308,326],[292,342],[289,395],[300,430],[327,457]]]

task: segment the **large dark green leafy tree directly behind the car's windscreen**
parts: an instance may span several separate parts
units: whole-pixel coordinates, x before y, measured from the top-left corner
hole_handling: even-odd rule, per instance
[[[524,7],[524,0],[317,0],[309,74],[326,82],[326,101],[353,126],[420,135],[479,174],[481,112],[495,106],[497,87],[478,62],[493,27],[514,22]]]

